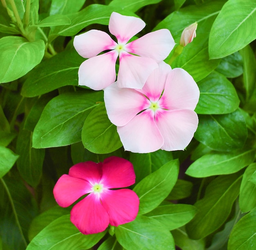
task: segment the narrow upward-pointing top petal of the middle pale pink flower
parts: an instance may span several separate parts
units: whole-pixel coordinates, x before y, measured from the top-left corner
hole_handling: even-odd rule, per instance
[[[161,96],[171,66],[165,62],[159,63],[159,68],[155,69],[148,77],[141,93],[146,95],[151,102],[157,102]]]

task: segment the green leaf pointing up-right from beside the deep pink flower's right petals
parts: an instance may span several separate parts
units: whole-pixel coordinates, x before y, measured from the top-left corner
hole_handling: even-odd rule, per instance
[[[139,214],[150,212],[168,196],[177,181],[178,167],[178,160],[168,162],[135,186],[133,191],[139,197]]]

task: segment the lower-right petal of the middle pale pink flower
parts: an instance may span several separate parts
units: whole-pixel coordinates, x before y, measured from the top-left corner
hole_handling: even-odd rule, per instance
[[[155,115],[155,122],[164,137],[161,149],[184,150],[189,145],[198,127],[198,116],[192,110],[161,110]]]

